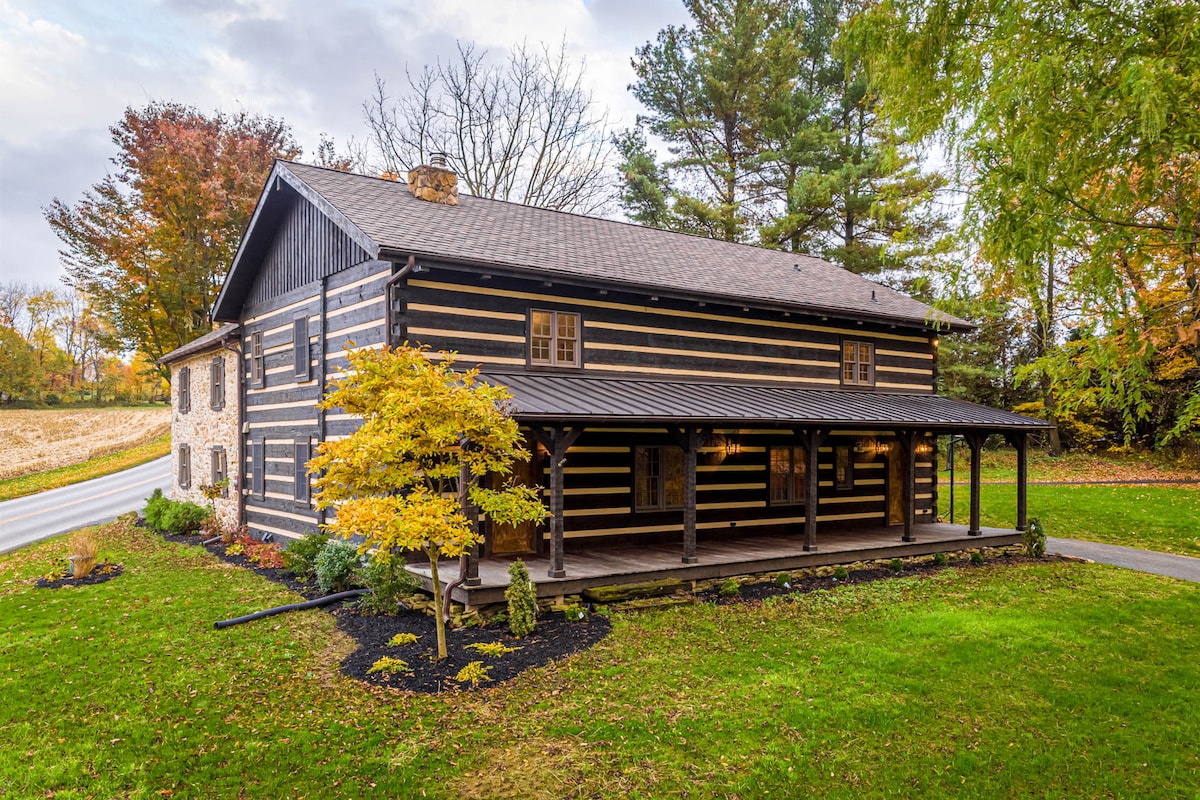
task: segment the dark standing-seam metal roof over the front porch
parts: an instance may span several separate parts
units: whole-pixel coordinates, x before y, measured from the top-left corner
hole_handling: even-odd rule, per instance
[[[764,384],[488,372],[509,387],[522,422],[754,423],[1040,431],[1043,420],[937,395],[823,391]]]

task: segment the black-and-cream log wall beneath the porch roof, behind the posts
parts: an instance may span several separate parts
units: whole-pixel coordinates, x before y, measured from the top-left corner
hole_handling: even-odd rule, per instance
[[[803,535],[804,505],[773,506],[767,495],[768,447],[794,445],[790,432],[718,428],[713,434],[697,463],[698,537]],[[738,443],[737,455],[726,455],[726,440]],[[888,486],[886,455],[870,450],[854,453],[853,489],[834,486],[834,449],[853,449],[857,441],[870,440],[899,447],[888,431],[834,431],[821,447],[818,543],[839,528],[887,524],[888,492],[904,489]],[[587,428],[568,451],[564,467],[564,537],[578,543],[610,537],[682,541],[682,510],[638,512],[634,507],[634,447],[672,444],[665,428]],[[934,522],[935,458],[930,452],[917,459],[917,522]],[[542,471],[546,486],[548,468]]]

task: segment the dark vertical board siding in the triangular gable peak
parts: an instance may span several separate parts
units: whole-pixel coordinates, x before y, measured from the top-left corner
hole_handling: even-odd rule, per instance
[[[295,199],[263,258],[246,302],[250,306],[271,302],[366,258],[367,252],[317,206]]]

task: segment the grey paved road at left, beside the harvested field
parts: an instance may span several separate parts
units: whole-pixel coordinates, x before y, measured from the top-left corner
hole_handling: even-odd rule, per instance
[[[170,456],[121,473],[0,503],[0,553],[54,534],[140,511],[145,499],[170,486]]]

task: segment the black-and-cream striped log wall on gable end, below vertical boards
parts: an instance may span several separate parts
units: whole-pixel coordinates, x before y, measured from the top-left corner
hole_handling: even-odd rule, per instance
[[[337,374],[346,363],[348,342],[359,347],[378,345],[384,338],[383,287],[391,276],[388,261],[366,260],[325,278],[325,378]],[[246,390],[247,465],[253,470],[254,444],[264,447],[265,485],[262,495],[246,497],[246,522],[262,536],[296,537],[317,530],[317,512],[311,503],[294,498],[294,443],[319,440],[320,426],[316,404],[320,399],[320,281],[312,281],[271,301],[246,309],[242,362]],[[308,320],[311,378],[296,380],[293,321]],[[254,332],[263,337],[264,386],[256,389],[250,380],[250,342]],[[325,415],[325,438],[344,437],[358,427],[347,414]],[[250,481],[245,483],[251,486]]]

